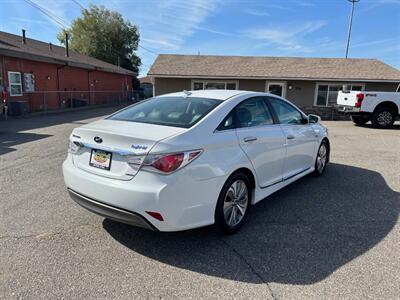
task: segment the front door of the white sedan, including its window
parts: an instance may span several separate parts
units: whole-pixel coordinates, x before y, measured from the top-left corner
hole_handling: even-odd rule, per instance
[[[317,137],[306,117],[295,106],[275,97],[268,97],[267,101],[285,135],[285,180],[313,166]]]

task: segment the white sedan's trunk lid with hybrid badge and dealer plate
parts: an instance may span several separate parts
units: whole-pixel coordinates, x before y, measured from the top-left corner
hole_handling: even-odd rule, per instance
[[[138,169],[127,163],[128,155],[145,155],[157,142],[185,130],[146,123],[100,120],[73,131],[71,140],[82,145],[73,154],[73,161],[86,172],[130,180]]]

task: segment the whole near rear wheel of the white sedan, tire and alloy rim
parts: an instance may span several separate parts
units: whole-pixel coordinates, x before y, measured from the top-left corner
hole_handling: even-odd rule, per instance
[[[246,174],[233,174],[223,186],[215,210],[215,223],[223,233],[231,234],[240,229],[247,219],[251,188]]]

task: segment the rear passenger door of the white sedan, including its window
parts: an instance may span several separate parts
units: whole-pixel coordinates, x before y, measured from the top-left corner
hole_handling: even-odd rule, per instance
[[[256,172],[260,187],[282,181],[285,137],[265,97],[252,97],[235,108],[236,134]]]

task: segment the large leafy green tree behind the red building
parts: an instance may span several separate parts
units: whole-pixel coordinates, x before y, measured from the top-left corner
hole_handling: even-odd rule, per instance
[[[70,28],[57,35],[59,41],[65,45],[68,33],[70,49],[137,72],[141,65],[135,52],[140,37],[138,27],[104,6],[90,5],[81,12]]]

